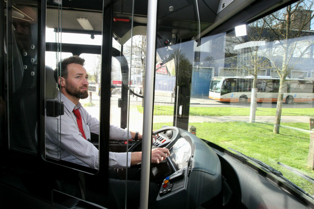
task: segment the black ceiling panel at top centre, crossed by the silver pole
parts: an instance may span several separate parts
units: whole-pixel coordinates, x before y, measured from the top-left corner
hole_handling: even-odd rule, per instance
[[[219,1],[203,0],[198,1],[177,1],[177,0],[160,0],[158,6],[158,30],[166,30],[172,34],[179,34],[181,39],[193,37],[198,31],[198,11],[201,21],[201,29],[207,28],[213,24],[216,18],[216,11]],[[123,12],[121,12],[123,11]],[[127,36],[131,30],[132,18],[132,1],[115,2],[114,16],[116,18],[129,19],[130,22],[114,22],[113,30],[119,37]],[[146,25],[147,22],[147,2],[134,3],[134,26]],[[144,32],[142,35],[145,35]],[[124,38],[122,38],[124,39]],[[123,41],[122,41],[123,42]]]

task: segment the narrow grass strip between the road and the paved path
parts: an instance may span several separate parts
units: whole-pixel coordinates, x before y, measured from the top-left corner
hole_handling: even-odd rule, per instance
[[[138,112],[143,113],[143,107],[137,106]],[[154,115],[173,115],[173,106],[154,106]],[[197,116],[249,116],[249,107],[190,107],[190,115]],[[275,116],[276,108],[257,108],[257,116]],[[283,116],[314,116],[313,108],[282,108]]]

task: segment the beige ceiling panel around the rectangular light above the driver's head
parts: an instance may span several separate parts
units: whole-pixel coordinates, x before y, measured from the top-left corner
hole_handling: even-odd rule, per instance
[[[48,28],[58,28],[58,9],[56,8],[47,8],[46,11],[46,26]],[[102,12],[91,12],[91,11],[77,11],[77,10],[67,10],[62,9],[62,29],[66,30],[81,30],[86,31],[83,27],[78,23],[78,17],[88,18],[90,24],[93,27],[93,31],[100,32],[102,31]],[[60,16],[61,23],[61,16]],[[61,25],[59,23],[59,25]],[[89,32],[86,32],[89,34]]]

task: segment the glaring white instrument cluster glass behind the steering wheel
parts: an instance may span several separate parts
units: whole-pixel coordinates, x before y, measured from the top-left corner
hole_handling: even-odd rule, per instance
[[[185,138],[179,138],[170,150],[170,159],[174,162],[177,169],[181,169],[188,165],[191,154],[190,143]]]

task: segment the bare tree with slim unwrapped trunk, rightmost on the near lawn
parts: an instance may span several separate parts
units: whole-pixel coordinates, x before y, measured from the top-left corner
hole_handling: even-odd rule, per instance
[[[311,1],[298,1],[263,18],[273,34],[271,47],[263,52],[280,78],[273,133],[279,133],[286,77],[294,69],[295,64],[309,53],[313,44],[313,38],[308,32],[313,19],[312,6]]]

